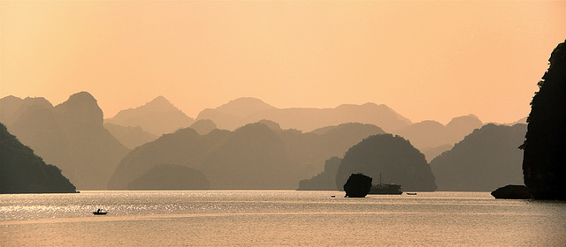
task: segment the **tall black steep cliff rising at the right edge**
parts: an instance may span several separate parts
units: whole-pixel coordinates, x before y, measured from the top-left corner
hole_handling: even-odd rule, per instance
[[[537,199],[566,200],[566,41],[548,59],[550,66],[531,101],[524,149],[524,185]]]

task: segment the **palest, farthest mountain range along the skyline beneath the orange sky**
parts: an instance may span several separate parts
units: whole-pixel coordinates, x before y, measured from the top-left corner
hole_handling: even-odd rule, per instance
[[[142,123],[139,119],[165,119],[161,116],[153,116],[152,113],[145,110],[157,110],[160,108],[180,112],[179,109],[174,108],[164,97],[160,96],[142,107],[120,111],[119,115],[114,118],[106,119],[106,123],[124,126],[139,125],[144,131],[147,131],[148,128],[152,127]],[[132,117],[134,115],[136,117]],[[126,123],[124,119],[128,117],[130,119],[136,118],[137,120],[128,120],[129,123]],[[201,128],[203,121],[207,121],[209,125],[205,128],[207,130],[202,131],[210,131],[212,128],[235,130],[245,124],[256,123],[262,120],[278,123],[285,130],[295,129],[305,132],[341,123],[369,123],[379,126],[386,132],[398,134],[409,139],[412,145],[424,152],[428,161],[454,146],[455,142],[460,141],[471,131],[483,125],[478,116],[472,114],[457,116],[446,125],[432,120],[411,123],[409,119],[396,113],[394,109],[375,103],[365,103],[363,105],[342,104],[334,109],[279,109],[252,97],[237,98],[215,109],[203,109],[195,120],[192,120],[192,123],[199,122],[198,125],[195,125],[195,128]],[[159,121],[159,123],[165,122],[170,124],[170,127],[168,127],[169,132],[192,125],[192,123],[188,124],[188,122]],[[161,132],[164,133],[164,131]],[[153,133],[157,135],[155,131]]]

